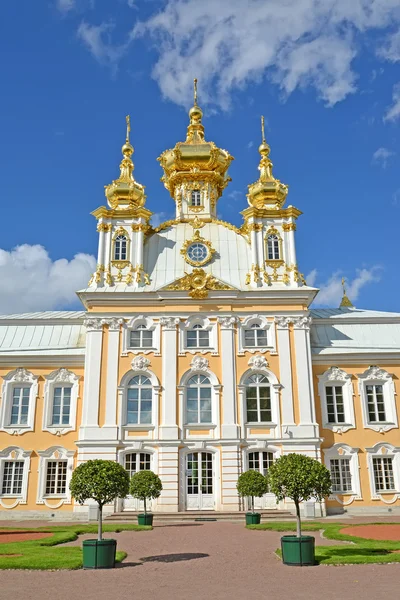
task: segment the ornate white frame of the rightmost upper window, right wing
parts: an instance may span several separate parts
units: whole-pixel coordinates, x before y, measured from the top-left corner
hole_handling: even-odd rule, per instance
[[[381,385],[385,403],[386,421],[371,422],[368,415],[367,385]],[[361,398],[361,408],[365,429],[384,433],[398,427],[396,411],[396,390],[393,376],[380,367],[371,366],[358,375],[358,389]]]

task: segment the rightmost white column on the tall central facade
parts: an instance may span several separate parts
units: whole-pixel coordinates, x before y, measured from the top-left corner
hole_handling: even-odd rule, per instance
[[[314,388],[312,381],[310,325],[311,317],[293,318],[297,390],[300,403],[300,425],[316,425]]]

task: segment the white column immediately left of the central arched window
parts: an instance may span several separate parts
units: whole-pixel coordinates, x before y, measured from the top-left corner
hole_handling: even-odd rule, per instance
[[[179,428],[176,414],[177,392],[177,333],[176,326],[179,319],[176,317],[162,317],[162,423],[160,426],[160,439],[177,440]]]

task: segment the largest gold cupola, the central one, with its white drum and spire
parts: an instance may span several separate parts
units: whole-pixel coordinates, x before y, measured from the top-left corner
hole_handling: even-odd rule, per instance
[[[189,110],[186,140],[165,150],[158,158],[164,175],[161,181],[177,204],[177,217],[190,217],[192,212],[216,212],[216,202],[231,181],[228,168],[233,156],[204,139],[203,111],[197,104],[197,79],[194,80],[194,105]],[[199,193],[198,206],[191,208],[190,194]]]

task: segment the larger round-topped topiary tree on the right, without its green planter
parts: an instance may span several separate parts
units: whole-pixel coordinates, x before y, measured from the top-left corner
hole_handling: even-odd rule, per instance
[[[300,502],[322,502],[331,493],[331,474],[325,465],[304,454],[286,454],[268,469],[269,489],[276,501],[291,498],[296,507],[297,537],[301,537]]]

